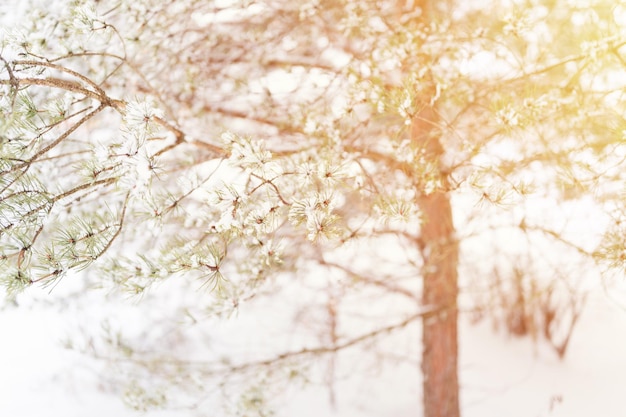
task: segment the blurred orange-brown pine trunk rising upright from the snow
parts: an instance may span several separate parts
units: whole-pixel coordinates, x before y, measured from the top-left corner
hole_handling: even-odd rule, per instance
[[[420,23],[431,17],[431,0],[416,0]],[[405,4],[406,5],[406,4]],[[405,9],[406,10],[406,9]],[[423,217],[420,249],[424,260],[422,303],[434,309],[424,317],[422,330],[423,404],[425,417],[459,417],[458,380],[458,258],[447,170],[438,113],[432,102],[435,85],[426,77],[415,100],[411,140],[424,160],[434,168],[439,187],[431,193],[418,190],[417,204]],[[419,181],[418,181],[419,184]],[[419,186],[418,186],[419,188]]]

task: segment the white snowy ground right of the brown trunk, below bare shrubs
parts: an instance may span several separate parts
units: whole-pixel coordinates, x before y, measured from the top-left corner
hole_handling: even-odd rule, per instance
[[[462,329],[461,375],[466,417],[624,415],[626,311],[592,294],[570,350],[560,361],[529,339]]]

